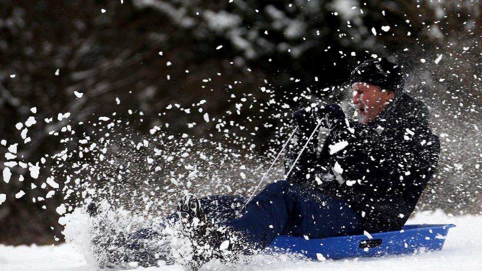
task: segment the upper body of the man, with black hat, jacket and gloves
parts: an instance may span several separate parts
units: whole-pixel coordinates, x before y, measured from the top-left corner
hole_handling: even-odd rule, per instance
[[[357,67],[351,83],[359,123],[345,122],[336,105],[315,112],[325,115],[330,134],[320,157],[309,149],[290,178],[306,183],[303,175],[311,173],[316,187],[356,211],[368,232],[399,230],[438,162],[440,143],[428,126],[428,110],[402,92],[402,79],[400,67],[385,58]],[[305,116],[295,114],[303,136],[314,125]]]

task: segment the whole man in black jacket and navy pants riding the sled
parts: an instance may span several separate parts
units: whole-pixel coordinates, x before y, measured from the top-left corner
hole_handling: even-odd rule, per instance
[[[286,172],[319,121],[330,130],[321,154],[315,136],[288,179],[266,186],[241,217],[230,207],[239,206],[240,198],[200,201],[188,194],[181,200],[180,222],[194,247],[188,265],[252,253],[279,235],[323,238],[401,229],[437,166],[439,139],[429,128],[426,106],[403,93],[397,64],[367,60],[352,72],[351,84],[358,123],[349,122],[336,104],[297,111]]]

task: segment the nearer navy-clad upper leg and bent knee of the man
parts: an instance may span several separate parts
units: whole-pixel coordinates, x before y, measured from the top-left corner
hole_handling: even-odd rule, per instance
[[[286,181],[266,186],[246,205],[243,216],[226,226],[256,248],[279,235],[323,238],[361,232],[357,214],[342,200]]]

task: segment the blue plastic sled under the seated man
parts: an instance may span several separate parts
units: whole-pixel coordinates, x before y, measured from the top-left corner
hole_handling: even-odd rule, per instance
[[[401,231],[309,239],[279,236],[271,247],[298,253],[313,260],[376,257],[441,250],[453,224],[405,225]],[[318,256],[317,256],[318,254]]]

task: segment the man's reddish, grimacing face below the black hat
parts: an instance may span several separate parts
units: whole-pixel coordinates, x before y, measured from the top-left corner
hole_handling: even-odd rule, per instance
[[[381,89],[368,83],[354,83],[353,105],[358,112],[360,123],[368,123],[374,120],[382,110],[392,101],[394,92]]]

